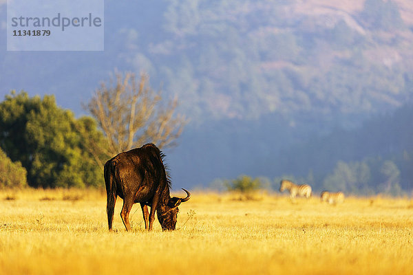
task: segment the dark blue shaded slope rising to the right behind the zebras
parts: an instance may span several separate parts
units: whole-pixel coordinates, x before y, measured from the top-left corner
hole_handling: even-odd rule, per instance
[[[281,179],[290,179],[310,184],[317,191],[408,195],[413,190],[412,121],[413,105],[407,103],[357,128],[336,128],[329,134],[285,146],[271,158],[251,164],[248,173],[265,175],[257,177],[264,183],[261,188],[274,191]],[[224,187],[222,179],[211,183],[217,190]]]

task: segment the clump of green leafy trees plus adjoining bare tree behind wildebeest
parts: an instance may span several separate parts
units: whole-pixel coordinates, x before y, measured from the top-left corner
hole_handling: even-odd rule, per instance
[[[103,186],[107,159],[147,142],[173,146],[186,120],[147,79],[115,72],[80,118],[52,95],[11,91],[0,102],[0,188]]]

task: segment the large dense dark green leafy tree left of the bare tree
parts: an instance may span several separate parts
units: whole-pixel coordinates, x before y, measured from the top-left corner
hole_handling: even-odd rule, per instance
[[[0,103],[0,146],[28,171],[33,187],[85,187],[103,182],[87,148],[87,137],[103,140],[90,118],[76,120],[56,106],[54,96],[30,98],[14,91]]]

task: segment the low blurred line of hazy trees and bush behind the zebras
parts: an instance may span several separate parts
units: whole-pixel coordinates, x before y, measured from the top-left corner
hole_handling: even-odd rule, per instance
[[[271,180],[268,177],[240,175],[236,179],[215,179],[209,188],[217,191],[239,192],[246,199],[253,197],[257,190],[278,192],[282,179],[296,184],[310,184],[315,196],[321,190],[344,192],[352,195],[374,195],[377,193],[401,196],[407,190],[401,187],[401,170],[392,160],[364,159],[361,162],[343,162],[339,160],[335,167],[317,181],[310,171],[307,176],[282,175]]]

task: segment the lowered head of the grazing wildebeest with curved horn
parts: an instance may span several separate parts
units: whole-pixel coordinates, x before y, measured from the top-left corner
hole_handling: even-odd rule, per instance
[[[169,201],[164,205],[160,206],[158,209],[158,221],[162,230],[175,230],[176,227],[176,218],[178,216],[178,206],[180,203],[188,201],[191,198],[191,193],[188,190],[182,188],[185,192],[187,192],[187,197],[185,198],[178,198],[178,197],[171,197]]]

